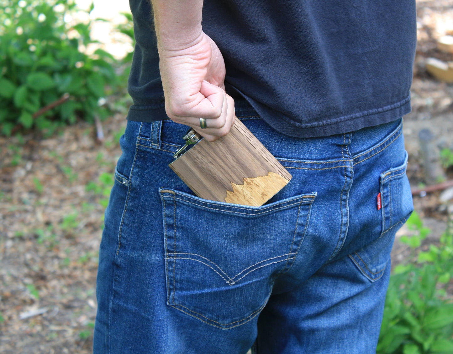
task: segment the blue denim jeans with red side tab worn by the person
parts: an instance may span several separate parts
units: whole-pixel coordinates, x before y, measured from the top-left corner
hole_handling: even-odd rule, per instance
[[[413,210],[401,119],[302,139],[236,115],[293,176],[261,207],[198,198],[174,174],[188,127],[127,123],[95,354],[376,352],[390,250]]]

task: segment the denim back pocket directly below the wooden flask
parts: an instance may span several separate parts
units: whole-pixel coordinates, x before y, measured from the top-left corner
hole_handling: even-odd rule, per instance
[[[316,193],[260,207],[159,188],[167,305],[212,326],[240,326],[265,306],[275,277],[289,270]]]

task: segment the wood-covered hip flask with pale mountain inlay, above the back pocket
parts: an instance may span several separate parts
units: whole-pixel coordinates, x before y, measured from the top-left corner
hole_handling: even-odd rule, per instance
[[[183,139],[186,144],[169,166],[200,198],[259,207],[291,180],[239,118],[215,142],[193,129]]]

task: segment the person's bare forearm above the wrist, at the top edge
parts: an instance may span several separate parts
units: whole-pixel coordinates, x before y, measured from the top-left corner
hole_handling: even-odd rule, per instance
[[[151,0],[159,50],[178,50],[202,36],[203,0]]]

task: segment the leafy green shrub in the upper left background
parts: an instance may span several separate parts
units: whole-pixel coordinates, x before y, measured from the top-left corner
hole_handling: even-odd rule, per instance
[[[106,84],[116,83],[114,60],[101,49],[92,56],[79,51],[93,41],[90,23],[70,24],[76,13],[88,18],[71,0],[0,0],[1,133],[17,123],[51,132],[76,116],[106,117],[98,100]],[[64,104],[33,117],[65,93],[71,98]]]

